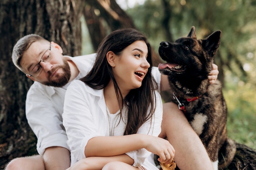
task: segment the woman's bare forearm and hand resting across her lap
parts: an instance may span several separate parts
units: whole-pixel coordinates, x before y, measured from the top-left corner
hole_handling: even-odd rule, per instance
[[[159,161],[165,162],[174,157],[171,144],[160,137],[145,134],[125,136],[98,136],[90,139],[85,146],[86,157],[115,156],[133,150],[145,148],[151,153],[159,155]],[[168,152],[168,155],[166,153]]]

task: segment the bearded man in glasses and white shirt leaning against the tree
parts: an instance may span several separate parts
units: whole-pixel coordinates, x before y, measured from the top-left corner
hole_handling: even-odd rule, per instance
[[[65,91],[74,79],[85,76],[95,54],[80,57],[63,56],[61,46],[38,35],[21,38],[13,48],[13,63],[34,81],[26,100],[26,117],[38,138],[39,155],[13,159],[6,170],[65,170],[70,167],[70,150],[62,125]],[[216,81],[216,65],[209,80]],[[167,77],[153,68],[159,88],[167,90]],[[184,114],[173,103],[164,104],[160,137],[168,137],[175,148],[175,161],[181,169],[212,169],[202,142]],[[201,168],[202,167],[202,168]]]

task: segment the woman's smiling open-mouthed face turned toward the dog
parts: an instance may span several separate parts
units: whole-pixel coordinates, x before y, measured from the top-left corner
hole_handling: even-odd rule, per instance
[[[113,74],[119,88],[124,91],[141,87],[148,72],[148,48],[144,41],[135,41],[115,57]]]

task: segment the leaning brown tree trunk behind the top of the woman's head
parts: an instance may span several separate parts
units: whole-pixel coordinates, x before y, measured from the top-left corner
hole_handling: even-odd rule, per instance
[[[96,11],[97,16],[94,10],[99,11],[99,13]],[[119,7],[115,0],[87,0],[84,16],[94,50],[97,50],[96,47],[99,46],[102,39],[108,35],[109,32],[119,28],[136,29],[132,18]],[[103,22],[106,22],[108,25],[103,27]],[[161,62],[159,55],[155,51],[152,52],[152,61],[154,66],[158,66]]]

